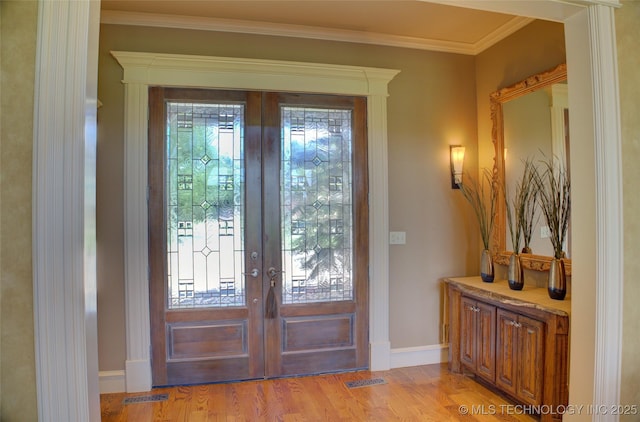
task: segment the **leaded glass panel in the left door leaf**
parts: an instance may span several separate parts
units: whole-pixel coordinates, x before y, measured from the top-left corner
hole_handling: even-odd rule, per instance
[[[244,106],[170,101],[168,308],[242,306]]]

